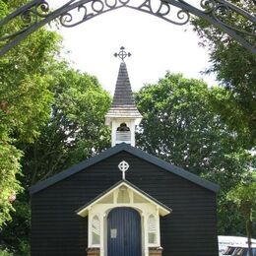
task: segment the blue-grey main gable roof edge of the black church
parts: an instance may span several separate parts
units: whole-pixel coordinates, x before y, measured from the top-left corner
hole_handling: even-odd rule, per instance
[[[202,186],[208,190],[211,190],[213,192],[218,192],[220,189],[219,185],[217,185],[213,182],[210,182],[204,178],[201,178],[189,171],[184,170],[183,168],[180,168],[173,164],[170,164],[169,162],[160,160],[159,158],[154,157],[154,156],[152,156],[144,151],[141,151],[137,148],[134,148],[128,144],[122,143],[122,144],[118,144],[115,147],[110,148],[110,149],[96,155],[96,157],[93,157],[89,160],[81,161],[80,163],[78,163],[66,170],[63,170],[62,172],[60,172],[50,178],[47,178],[44,181],[39,181],[38,183],[36,183],[35,185],[33,185],[30,188],[30,193],[34,194],[42,189],[45,189],[45,188],[65,179],[75,173],[82,171],[85,168],[88,168],[88,167],[96,164],[97,162],[99,162],[101,160],[105,160],[119,152],[122,152],[122,151],[125,151],[135,157],[142,159],[142,160],[151,162],[151,163],[159,166],[162,169],[165,169],[175,175],[178,175],[184,179],[187,179],[187,180],[189,180],[199,186]]]

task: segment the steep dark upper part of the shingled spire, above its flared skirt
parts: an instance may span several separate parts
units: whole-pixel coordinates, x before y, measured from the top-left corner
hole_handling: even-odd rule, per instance
[[[130,85],[130,80],[125,62],[121,62],[119,73],[115,86],[112,106],[133,105],[135,106],[134,97]]]

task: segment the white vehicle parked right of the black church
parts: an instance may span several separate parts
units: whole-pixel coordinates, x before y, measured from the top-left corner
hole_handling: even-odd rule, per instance
[[[248,247],[248,240],[247,237],[243,236],[226,236],[226,235],[219,235],[218,236],[218,242],[219,242],[219,255],[241,255],[241,256],[247,256],[247,254],[232,254],[238,249],[236,248],[244,248],[243,251],[245,251]],[[256,239],[251,239],[252,247],[256,247]],[[228,247],[228,248],[227,248]],[[241,251],[241,250],[240,250]],[[225,254],[224,254],[225,253]],[[253,256],[256,256],[256,254],[253,254]]]

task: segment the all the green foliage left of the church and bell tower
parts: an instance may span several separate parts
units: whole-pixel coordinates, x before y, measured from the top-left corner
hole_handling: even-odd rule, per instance
[[[26,2],[0,0],[0,19]],[[60,39],[40,29],[0,59],[0,243],[8,255],[30,255],[27,188],[109,146],[110,96],[95,77],[60,62]]]

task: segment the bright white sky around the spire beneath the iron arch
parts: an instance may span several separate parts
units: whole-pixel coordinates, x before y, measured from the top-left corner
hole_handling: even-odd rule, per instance
[[[55,8],[67,0],[48,2]],[[77,19],[79,15],[76,13]],[[210,66],[209,54],[198,45],[199,37],[189,25],[172,25],[153,15],[121,8],[74,28],[59,28],[65,57],[72,66],[96,76],[111,94],[120,65],[113,54],[121,46],[132,54],[125,62],[134,92],[144,84],[157,83],[166,71],[203,79],[209,86],[217,84],[214,75],[201,74]]]

